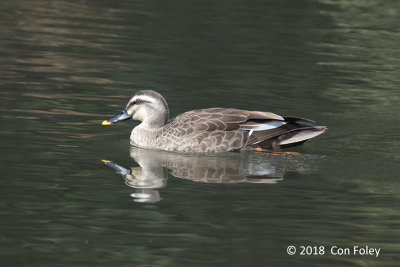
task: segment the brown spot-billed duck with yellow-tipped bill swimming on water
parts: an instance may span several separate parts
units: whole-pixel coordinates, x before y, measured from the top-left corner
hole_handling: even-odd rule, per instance
[[[102,125],[128,119],[141,121],[131,132],[132,146],[184,153],[277,150],[303,144],[327,129],[305,118],[223,107],[170,119],[167,101],[154,90],[136,92],[122,112]]]

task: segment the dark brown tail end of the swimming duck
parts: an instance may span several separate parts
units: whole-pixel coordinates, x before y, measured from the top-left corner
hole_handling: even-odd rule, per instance
[[[314,126],[313,121],[297,117],[284,117],[283,122],[272,129],[251,130],[244,149],[279,149],[297,146],[324,133],[327,129],[325,126]],[[271,124],[261,121],[255,123]]]

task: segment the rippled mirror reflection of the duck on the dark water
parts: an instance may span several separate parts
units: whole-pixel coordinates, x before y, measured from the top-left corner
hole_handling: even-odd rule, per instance
[[[262,153],[246,151],[223,154],[179,154],[131,147],[130,156],[139,165],[127,169],[116,162],[102,160],[136,189],[136,202],[161,200],[159,189],[169,175],[201,183],[275,184],[287,172],[300,174],[315,170],[315,156],[299,153]]]

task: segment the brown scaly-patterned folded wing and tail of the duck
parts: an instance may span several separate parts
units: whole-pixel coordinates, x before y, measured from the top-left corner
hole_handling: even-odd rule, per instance
[[[220,139],[234,143],[234,149],[268,149],[301,144],[325,131],[325,127],[313,123],[270,112],[208,108],[183,113],[170,126],[175,136],[219,135]]]

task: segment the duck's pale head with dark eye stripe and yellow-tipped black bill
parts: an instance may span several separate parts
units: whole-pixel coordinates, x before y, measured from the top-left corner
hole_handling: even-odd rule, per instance
[[[142,90],[129,100],[125,109],[118,115],[103,121],[111,125],[127,119],[142,121],[146,127],[161,127],[168,121],[169,110],[165,99],[156,91]]]

